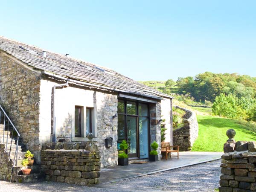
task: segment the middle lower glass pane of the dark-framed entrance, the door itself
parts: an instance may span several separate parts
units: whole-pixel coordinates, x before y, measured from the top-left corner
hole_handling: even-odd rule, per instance
[[[127,116],[127,143],[129,157],[138,157],[137,153],[137,117]]]

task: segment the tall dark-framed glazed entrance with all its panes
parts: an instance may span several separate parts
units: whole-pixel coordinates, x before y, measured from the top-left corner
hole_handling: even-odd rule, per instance
[[[148,105],[139,102],[118,100],[118,141],[128,143],[129,158],[148,158],[149,118]]]

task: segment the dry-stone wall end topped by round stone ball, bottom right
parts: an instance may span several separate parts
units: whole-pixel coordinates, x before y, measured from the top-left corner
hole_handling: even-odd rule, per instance
[[[235,142],[232,137],[224,144],[221,156],[219,192],[256,191],[256,142]]]

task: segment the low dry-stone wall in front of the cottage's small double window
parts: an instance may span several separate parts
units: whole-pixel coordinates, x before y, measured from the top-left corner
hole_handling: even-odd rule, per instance
[[[77,185],[99,182],[100,155],[90,142],[47,143],[41,151],[41,169],[47,181]]]

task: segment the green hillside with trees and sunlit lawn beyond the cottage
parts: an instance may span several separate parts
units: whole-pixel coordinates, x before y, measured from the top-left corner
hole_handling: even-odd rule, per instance
[[[256,78],[206,72],[195,78],[179,78],[169,87],[168,81],[141,82],[172,94],[173,105],[195,111],[199,134],[192,151],[223,151],[230,128],[236,130],[236,141],[256,140]],[[183,126],[182,116],[183,111],[173,108],[174,129]]]

